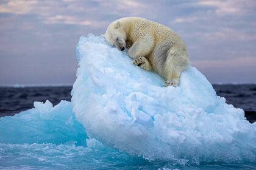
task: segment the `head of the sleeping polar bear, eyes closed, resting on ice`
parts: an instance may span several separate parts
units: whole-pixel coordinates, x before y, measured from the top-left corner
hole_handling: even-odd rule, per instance
[[[126,49],[126,32],[119,21],[112,22],[108,25],[104,36],[108,43],[119,50],[123,51]]]

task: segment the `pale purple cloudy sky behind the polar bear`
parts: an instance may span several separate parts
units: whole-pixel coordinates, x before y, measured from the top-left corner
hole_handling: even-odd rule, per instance
[[[73,84],[79,37],[140,16],[187,44],[212,83],[256,83],[256,1],[0,1],[0,85]]]

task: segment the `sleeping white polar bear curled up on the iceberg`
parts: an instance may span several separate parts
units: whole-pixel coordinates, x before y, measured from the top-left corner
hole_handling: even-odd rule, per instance
[[[144,18],[120,18],[108,25],[105,39],[119,50],[128,49],[132,63],[154,70],[166,86],[178,86],[180,74],[189,65],[183,40],[173,30]]]

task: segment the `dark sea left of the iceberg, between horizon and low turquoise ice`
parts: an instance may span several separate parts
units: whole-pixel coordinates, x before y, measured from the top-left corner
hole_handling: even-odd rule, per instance
[[[67,87],[0,87],[0,117],[15,115],[34,107],[34,101],[71,101],[72,86]]]

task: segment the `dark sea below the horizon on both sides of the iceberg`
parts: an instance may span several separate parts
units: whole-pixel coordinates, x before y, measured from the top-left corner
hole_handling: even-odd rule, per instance
[[[227,103],[244,109],[250,122],[256,121],[256,84],[213,85],[217,94],[225,97]],[[66,87],[0,87],[0,117],[14,115],[31,109],[34,101],[71,100],[72,86]]]

